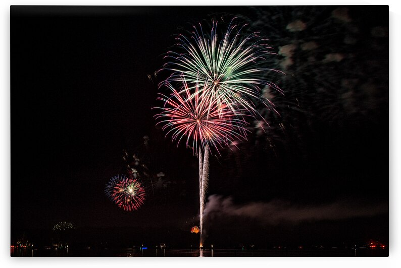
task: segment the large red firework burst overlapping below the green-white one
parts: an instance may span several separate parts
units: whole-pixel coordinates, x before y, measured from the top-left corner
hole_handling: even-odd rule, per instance
[[[191,93],[184,77],[182,84],[182,90],[177,91],[166,83],[171,96],[160,94],[158,98],[164,106],[156,117],[160,119],[158,124],[164,124],[163,130],[169,129],[166,136],[172,133],[173,141],[178,140],[178,144],[186,140],[185,146],[191,147],[193,152],[198,146],[205,149],[208,145],[218,151],[235,139],[246,139],[246,121],[241,109],[232,111],[225,103],[203,94],[207,91],[199,89],[198,85]]]

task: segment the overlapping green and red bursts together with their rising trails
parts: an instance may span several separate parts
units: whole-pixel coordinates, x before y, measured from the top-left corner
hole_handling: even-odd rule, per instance
[[[171,96],[162,95],[163,111],[157,115],[162,119],[163,130],[170,128],[172,139],[186,137],[186,147],[197,152],[199,158],[199,216],[201,247],[203,244],[203,213],[209,180],[209,153],[235,144],[234,140],[246,139],[245,116],[265,118],[257,110],[259,104],[277,113],[275,106],[264,95],[261,88],[281,89],[264,77],[269,72],[280,71],[265,68],[271,47],[266,39],[254,32],[242,36],[242,28],[228,26],[221,41],[218,41],[217,22],[213,22],[210,35],[205,35],[200,25],[187,38],[179,35],[177,46],[182,51],[167,53],[173,61],[162,70],[172,72],[159,84],[170,89]],[[238,29],[239,28],[239,29]],[[180,91],[176,85],[182,84]],[[278,113],[277,113],[278,114]],[[192,144],[190,140],[192,139]],[[204,155],[203,155],[204,152]]]

